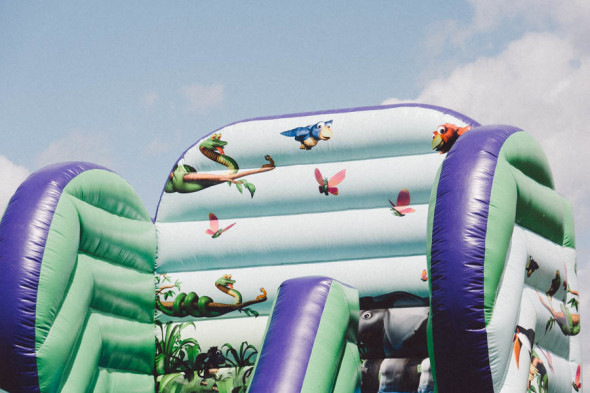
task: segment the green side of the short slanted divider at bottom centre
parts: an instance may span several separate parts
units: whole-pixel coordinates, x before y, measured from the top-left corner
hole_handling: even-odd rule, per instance
[[[346,293],[348,291],[356,293],[353,288],[332,282],[307,365],[302,392],[329,392],[334,387],[351,322],[354,325],[356,321],[355,329],[358,329],[358,295],[355,302],[350,302],[352,296]],[[357,317],[351,318],[353,314]]]

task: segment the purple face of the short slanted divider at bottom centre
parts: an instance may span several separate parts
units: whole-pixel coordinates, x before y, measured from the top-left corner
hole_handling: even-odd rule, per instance
[[[327,277],[281,284],[250,392],[301,391],[331,285]]]

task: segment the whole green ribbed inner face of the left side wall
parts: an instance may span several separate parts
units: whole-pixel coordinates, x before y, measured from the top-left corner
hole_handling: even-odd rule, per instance
[[[154,390],[155,254],[155,227],[119,176],[87,171],[65,187],[47,238],[37,295],[42,392],[91,391],[106,378],[99,378],[100,367],[109,369],[111,381],[101,386],[138,379],[144,381],[139,391]]]

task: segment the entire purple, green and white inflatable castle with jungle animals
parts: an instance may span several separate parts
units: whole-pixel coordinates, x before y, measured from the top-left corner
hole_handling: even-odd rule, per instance
[[[405,104],[190,146],[151,218],[95,164],[0,224],[9,392],[579,392],[571,204],[526,132]]]

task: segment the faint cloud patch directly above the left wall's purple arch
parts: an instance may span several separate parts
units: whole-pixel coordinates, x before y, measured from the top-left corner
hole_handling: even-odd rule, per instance
[[[64,161],[87,161],[108,168],[115,167],[112,141],[101,133],[72,131],[53,141],[37,156],[39,167]]]

